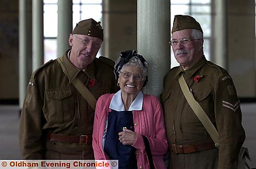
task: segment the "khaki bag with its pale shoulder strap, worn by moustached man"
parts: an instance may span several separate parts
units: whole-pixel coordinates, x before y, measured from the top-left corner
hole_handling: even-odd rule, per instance
[[[209,117],[206,115],[203,108],[195,100],[193,93],[191,93],[189,91],[186,81],[182,74],[178,77],[178,80],[179,80],[181,90],[187,100],[187,103],[192,108],[192,110],[195,112],[195,114],[197,115],[197,117],[199,118],[201,123],[204,125],[205,129],[209,133],[212,140],[214,140],[215,146],[219,147],[219,134],[218,134],[218,131],[216,130],[215,126],[211,123]],[[239,157],[238,157],[238,169],[245,169],[246,167],[250,169],[250,166],[246,162],[246,158],[251,160],[250,156],[249,156],[248,149],[245,147],[242,147],[240,149]]]

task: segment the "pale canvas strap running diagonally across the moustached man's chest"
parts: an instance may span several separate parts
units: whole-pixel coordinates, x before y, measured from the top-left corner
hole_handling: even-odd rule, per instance
[[[205,129],[209,133],[212,140],[215,142],[215,146],[218,147],[219,144],[219,134],[216,130],[215,126],[211,123],[209,117],[206,115],[205,111],[202,109],[202,107],[199,105],[199,103],[195,100],[194,95],[189,91],[186,81],[181,74],[178,77],[181,90],[187,100],[187,103],[192,108],[192,110],[195,112],[197,117],[200,119],[201,123],[204,125]]]

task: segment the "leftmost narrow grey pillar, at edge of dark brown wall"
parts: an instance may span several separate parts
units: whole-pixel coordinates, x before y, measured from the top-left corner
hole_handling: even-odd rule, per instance
[[[19,108],[22,109],[31,75],[32,15],[31,1],[19,1]]]

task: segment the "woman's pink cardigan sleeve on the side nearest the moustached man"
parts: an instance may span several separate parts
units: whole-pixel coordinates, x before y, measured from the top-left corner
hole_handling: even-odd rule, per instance
[[[151,153],[152,155],[164,155],[167,152],[168,142],[166,139],[165,125],[163,119],[163,111],[161,104],[157,98],[154,98],[153,101],[154,108],[154,124],[155,126],[151,126],[150,129],[155,130],[155,136],[149,137],[147,136],[148,142],[150,143]],[[140,150],[145,150],[144,142],[142,136],[138,133],[137,140],[133,144],[133,147]]]

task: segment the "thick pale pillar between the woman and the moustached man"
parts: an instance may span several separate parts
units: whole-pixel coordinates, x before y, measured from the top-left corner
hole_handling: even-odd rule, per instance
[[[145,92],[159,95],[170,68],[170,1],[137,1],[138,53],[148,62]]]

